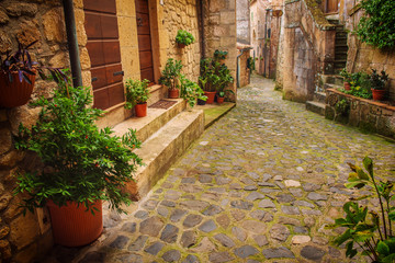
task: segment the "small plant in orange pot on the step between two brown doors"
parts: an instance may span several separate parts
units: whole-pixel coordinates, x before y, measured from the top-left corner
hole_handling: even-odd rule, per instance
[[[126,80],[126,104],[125,108],[135,108],[137,117],[147,116],[147,101],[150,95],[148,89],[149,80]]]

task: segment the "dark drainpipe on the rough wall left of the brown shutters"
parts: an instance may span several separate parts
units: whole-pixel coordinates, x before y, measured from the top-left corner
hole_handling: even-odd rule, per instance
[[[68,43],[68,49],[70,56],[72,84],[74,87],[81,87],[82,85],[81,62],[79,58],[76,18],[74,13],[72,0],[63,0],[63,3],[64,3],[64,12],[65,12],[67,43]]]

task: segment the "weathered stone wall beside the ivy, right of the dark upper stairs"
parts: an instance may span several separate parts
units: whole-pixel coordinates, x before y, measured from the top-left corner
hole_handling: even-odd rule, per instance
[[[342,5],[345,8],[341,9],[341,19],[346,28],[350,32],[356,31],[363,10],[351,12],[354,1],[350,0],[345,0]],[[374,46],[361,43],[356,34],[348,35],[348,46],[347,69],[351,72],[371,72],[371,69],[385,70],[390,75],[388,96],[391,101],[395,101],[395,50],[380,50]]]

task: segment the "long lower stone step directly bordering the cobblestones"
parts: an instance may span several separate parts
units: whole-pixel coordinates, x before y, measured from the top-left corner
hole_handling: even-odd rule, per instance
[[[135,182],[125,186],[132,198],[139,199],[145,196],[203,130],[203,111],[184,111],[142,144],[142,148],[135,152],[145,165],[137,170]]]

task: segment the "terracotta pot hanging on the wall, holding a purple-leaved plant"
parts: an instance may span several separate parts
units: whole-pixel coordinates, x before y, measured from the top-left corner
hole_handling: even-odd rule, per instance
[[[35,72],[35,70],[33,70]],[[0,72],[0,106],[15,107],[27,103],[32,95],[35,75],[27,75],[32,84],[27,83],[24,79],[22,82],[19,80],[18,72],[12,72],[13,81],[9,81],[8,75]]]

